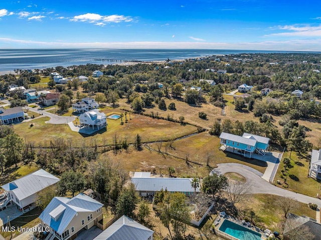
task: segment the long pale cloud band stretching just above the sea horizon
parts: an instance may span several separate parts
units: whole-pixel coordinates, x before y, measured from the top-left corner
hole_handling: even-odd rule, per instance
[[[321,49],[321,39],[289,40],[239,43],[200,43],[200,42],[40,42],[32,40],[17,40],[0,38],[11,48],[52,47],[52,48],[106,48],[106,49],[235,49],[235,50],[271,50],[271,51],[308,51],[315,52]]]

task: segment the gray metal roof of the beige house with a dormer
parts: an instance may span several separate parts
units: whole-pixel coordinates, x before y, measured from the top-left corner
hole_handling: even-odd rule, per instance
[[[69,222],[74,217],[77,217],[77,212],[93,212],[102,206],[102,203],[83,193],[79,193],[73,198],[54,197],[40,214],[39,218],[59,234],[62,234]],[[54,220],[51,213],[60,211],[62,207],[65,207],[64,211]]]

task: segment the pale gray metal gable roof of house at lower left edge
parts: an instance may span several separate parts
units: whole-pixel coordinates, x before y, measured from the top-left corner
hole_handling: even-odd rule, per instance
[[[58,177],[40,169],[27,176],[21,177],[15,181],[2,186],[7,191],[13,191],[19,200],[25,199],[42,189],[55,184],[59,181]]]

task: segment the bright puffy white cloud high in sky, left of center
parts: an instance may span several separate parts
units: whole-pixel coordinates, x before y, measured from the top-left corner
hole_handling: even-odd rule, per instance
[[[102,26],[101,23],[120,23],[120,22],[132,22],[133,19],[131,17],[125,17],[123,15],[109,15],[109,16],[102,16],[99,14],[83,14],[73,17],[70,21],[74,22],[89,22],[94,23],[95,25],[98,25],[97,23],[100,23],[98,26]],[[105,24],[104,24],[105,25]]]

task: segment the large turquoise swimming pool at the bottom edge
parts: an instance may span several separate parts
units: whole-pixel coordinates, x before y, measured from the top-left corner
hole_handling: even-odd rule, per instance
[[[232,221],[225,219],[220,226],[220,231],[223,231],[231,236],[240,240],[260,240],[261,234],[244,226],[236,224]]]

